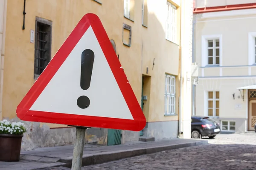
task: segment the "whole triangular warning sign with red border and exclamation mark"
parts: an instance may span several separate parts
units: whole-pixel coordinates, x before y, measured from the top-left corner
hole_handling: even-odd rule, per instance
[[[17,107],[21,120],[140,131],[145,116],[95,14],[86,14]]]

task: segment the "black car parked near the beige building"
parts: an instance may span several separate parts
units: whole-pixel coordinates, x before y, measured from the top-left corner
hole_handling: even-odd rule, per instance
[[[213,139],[221,129],[219,123],[206,116],[191,117],[191,138],[201,138],[208,136]]]

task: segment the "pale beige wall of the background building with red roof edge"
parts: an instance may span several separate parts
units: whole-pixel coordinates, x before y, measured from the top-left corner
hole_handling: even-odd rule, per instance
[[[208,116],[208,91],[219,91],[218,119],[236,122],[236,132],[247,131],[248,122],[248,92],[237,88],[256,84],[255,14],[255,8],[194,14],[195,60],[200,66],[195,113]],[[220,59],[218,65],[209,65],[207,41],[214,39],[219,40]]]

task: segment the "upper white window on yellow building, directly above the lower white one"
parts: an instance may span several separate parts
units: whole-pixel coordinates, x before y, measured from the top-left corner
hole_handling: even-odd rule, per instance
[[[177,43],[177,7],[167,1],[166,40]]]

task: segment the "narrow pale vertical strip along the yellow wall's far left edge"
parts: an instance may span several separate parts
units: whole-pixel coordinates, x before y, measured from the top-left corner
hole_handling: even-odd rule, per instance
[[[7,0],[0,0],[0,120],[2,120],[2,104],[3,104],[3,65],[5,52],[5,38],[6,38],[6,14],[7,14]]]

